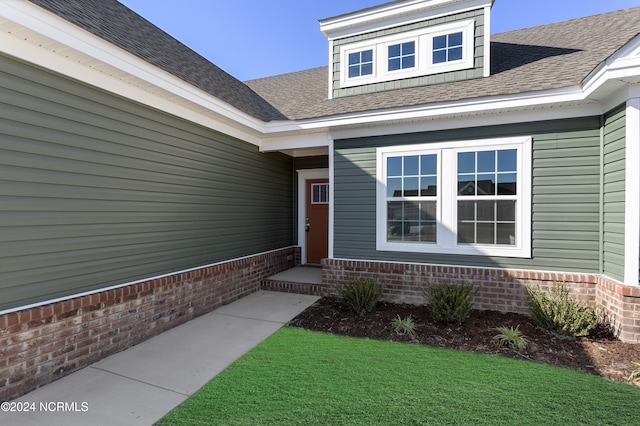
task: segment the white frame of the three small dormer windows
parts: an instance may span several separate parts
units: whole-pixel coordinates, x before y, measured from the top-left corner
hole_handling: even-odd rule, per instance
[[[462,59],[433,63],[433,37],[462,32]],[[340,87],[348,88],[404,78],[421,77],[473,68],[475,58],[475,21],[473,19],[394,34],[340,47]],[[415,66],[389,71],[389,46],[415,43]],[[349,78],[349,54],[373,50],[373,73]]]

